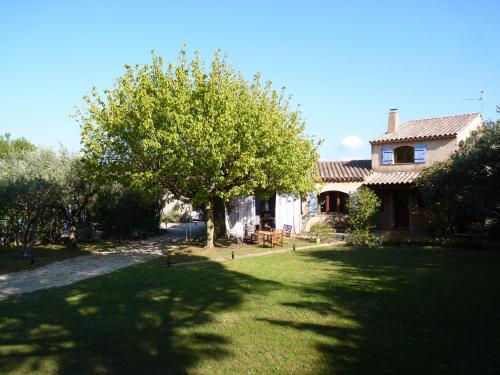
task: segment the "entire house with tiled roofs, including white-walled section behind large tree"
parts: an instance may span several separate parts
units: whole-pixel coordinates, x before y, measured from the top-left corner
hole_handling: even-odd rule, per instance
[[[321,183],[305,202],[279,193],[264,200],[234,199],[226,211],[229,235],[243,238],[247,224],[260,228],[287,224],[293,233],[300,233],[319,222],[342,223],[349,194],[361,186],[372,189],[382,201],[379,229],[426,231],[429,223],[416,179],[422,169],[449,158],[482,123],[481,114],[471,113],[400,125],[398,111],[391,110],[387,131],[370,141],[371,159],[319,161]]]

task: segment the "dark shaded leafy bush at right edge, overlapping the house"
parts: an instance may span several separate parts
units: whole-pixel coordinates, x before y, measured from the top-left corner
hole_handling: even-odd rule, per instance
[[[488,122],[418,185],[436,234],[448,237],[500,219],[500,121]]]

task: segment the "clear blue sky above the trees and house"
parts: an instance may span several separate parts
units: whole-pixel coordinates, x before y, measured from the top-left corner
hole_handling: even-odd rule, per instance
[[[247,77],[286,86],[325,159],[369,157],[401,120],[500,105],[500,1],[1,1],[0,133],[79,149],[70,118],[124,64],[221,48]],[[342,140],[354,135],[356,142]],[[350,138],[351,140],[353,137]]]

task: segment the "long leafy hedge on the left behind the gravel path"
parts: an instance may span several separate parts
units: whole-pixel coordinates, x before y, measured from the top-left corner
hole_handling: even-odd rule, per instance
[[[8,144],[0,159],[0,244],[15,241],[26,254],[35,240],[54,242],[67,233],[76,245],[93,236],[95,220],[111,236],[158,230],[162,201],[150,192],[106,182],[65,150]]]

